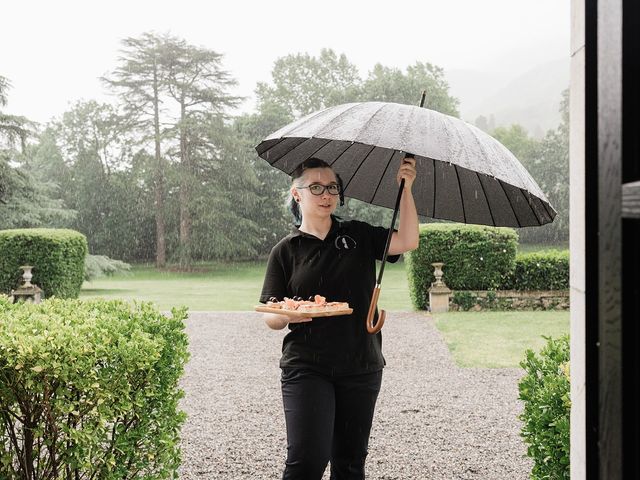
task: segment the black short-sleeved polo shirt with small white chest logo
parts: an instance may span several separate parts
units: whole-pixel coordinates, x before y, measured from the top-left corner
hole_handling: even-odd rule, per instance
[[[353,314],[290,323],[280,366],[307,367],[330,375],[374,372],[385,364],[382,335],[367,332],[365,321],[389,230],[332,217],[324,240],[295,229],[269,256],[261,302],[271,297],[322,295],[349,302]],[[399,255],[388,256],[395,262]]]

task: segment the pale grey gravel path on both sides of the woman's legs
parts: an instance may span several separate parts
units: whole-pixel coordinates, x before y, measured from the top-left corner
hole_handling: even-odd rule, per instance
[[[180,478],[278,479],[286,453],[285,331],[254,312],[193,312]],[[387,312],[367,478],[525,480],[518,369],[460,369],[429,316]],[[328,472],[325,474],[328,478]]]

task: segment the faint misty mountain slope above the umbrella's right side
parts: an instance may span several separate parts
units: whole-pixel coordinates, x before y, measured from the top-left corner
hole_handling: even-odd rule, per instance
[[[561,94],[569,87],[569,58],[514,73],[451,70],[446,76],[451,94],[460,100],[463,120],[475,123],[482,115],[496,127],[518,123],[541,137],[560,123]]]

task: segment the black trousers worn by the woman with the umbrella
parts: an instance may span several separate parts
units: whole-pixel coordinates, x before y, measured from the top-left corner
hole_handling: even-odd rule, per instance
[[[382,371],[331,377],[282,369],[287,424],[283,480],[320,480],[331,461],[332,480],[364,479],[371,422]]]

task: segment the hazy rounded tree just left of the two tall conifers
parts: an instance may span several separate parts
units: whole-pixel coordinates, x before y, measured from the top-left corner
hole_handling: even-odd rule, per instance
[[[33,162],[62,187],[60,197],[77,211],[70,226],[87,236],[92,253],[147,260],[139,238],[154,239],[152,182],[134,169],[133,143],[115,107],[78,102],[40,135]]]

